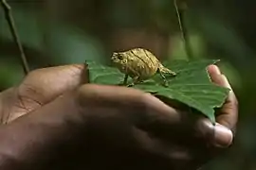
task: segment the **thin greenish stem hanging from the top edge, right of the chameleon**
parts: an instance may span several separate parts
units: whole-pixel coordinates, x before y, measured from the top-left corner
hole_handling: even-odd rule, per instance
[[[188,31],[186,29],[186,26],[184,25],[184,11],[185,7],[179,7],[177,5],[177,0],[174,0],[174,8],[177,14],[178,19],[178,25],[181,32],[181,36],[184,42],[185,51],[187,53],[187,56],[192,59],[192,48],[190,45],[189,37],[188,37]]]

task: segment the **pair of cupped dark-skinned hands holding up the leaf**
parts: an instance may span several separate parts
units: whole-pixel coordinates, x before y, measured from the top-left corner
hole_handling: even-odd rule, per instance
[[[227,77],[209,66],[214,83]],[[0,169],[195,170],[233,143],[230,91],[217,124],[141,91],[88,84],[83,65],[31,72],[0,93]]]

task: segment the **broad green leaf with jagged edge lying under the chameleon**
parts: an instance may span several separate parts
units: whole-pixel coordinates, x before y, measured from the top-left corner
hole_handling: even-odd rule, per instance
[[[164,65],[177,76],[166,76],[169,86],[162,86],[163,80],[155,75],[133,88],[144,92],[162,95],[170,99],[184,103],[195,110],[199,110],[215,122],[214,109],[220,108],[229,89],[213,84],[207,72],[207,66],[219,60],[174,60],[164,62]],[[123,74],[113,67],[102,66],[95,62],[87,62],[89,65],[90,81],[98,84],[119,84],[123,80]]]

